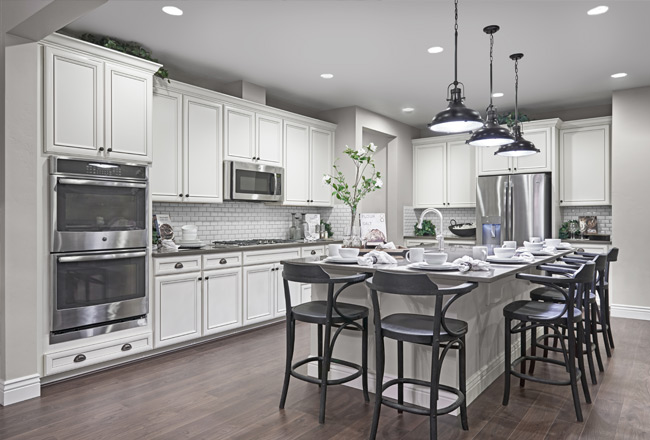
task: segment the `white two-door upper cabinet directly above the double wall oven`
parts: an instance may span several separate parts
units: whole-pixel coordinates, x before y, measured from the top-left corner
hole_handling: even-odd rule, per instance
[[[58,34],[41,44],[45,152],[150,162],[160,65]]]

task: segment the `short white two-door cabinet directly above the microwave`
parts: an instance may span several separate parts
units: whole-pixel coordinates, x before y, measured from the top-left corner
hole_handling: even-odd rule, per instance
[[[226,106],[224,158],[282,166],[282,119]]]

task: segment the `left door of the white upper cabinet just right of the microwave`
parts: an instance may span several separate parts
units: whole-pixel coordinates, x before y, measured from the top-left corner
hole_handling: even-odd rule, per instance
[[[309,127],[284,123],[284,201],[290,205],[307,205],[309,200]]]

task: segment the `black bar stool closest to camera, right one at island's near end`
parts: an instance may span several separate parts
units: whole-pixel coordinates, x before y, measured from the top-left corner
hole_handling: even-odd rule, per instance
[[[461,296],[478,287],[477,283],[464,283],[459,286],[440,289],[426,274],[396,274],[378,270],[366,281],[372,298],[375,323],[375,347],[377,354],[377,382],[375,386],[375,409],[372,417],[370,439],[377,436],[379,413],[384,404],[413,414],[429,416],[429,437],[437,438],[437,417],[460,408],[461,425],[468,430],[465,382],[465,334],[467,323],[458,319],[446,318],[449,306]],[[395,313],[381,317],[377,292],[395,295],[417,295],[435,297],[433,315]],[[443,307],[443,297],[453,295]],[[384,381],[384,338],[397,341],[397,379]],[[404,342],[432,347],[431,379],[424,381],[404,377]],[[440,349],[442,348],[442,352]],[[458,388],[440,384],[442,362],[450,349],[458,350]],[[404,405],[404,384],[429,387],[429,409]],[[397,385],[397,402],[383,397],[384,392]],[[444,408],[438,408],[438,391],[444,390],[456,395],[456,400]]]

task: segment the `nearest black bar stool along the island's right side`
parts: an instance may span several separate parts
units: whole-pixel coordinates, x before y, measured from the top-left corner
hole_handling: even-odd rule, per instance
[[[547,267],[540,266],[539,269],[547,270]],[[549,270],[556,270],[552,266]],[[560,272],[560,270],[556,270]],[[503,308],[503,316],[506,320],[505,327],[505,387],[503,391],[503,405],[508,405],[510,398],[510,376],[520,379],[520,386],[524,386],[526,380],[540,382],[548,385],[569,385],[573,394],[573,406],[575,407],[576,418],[583,421],[580,398],[578,396],[578,379],[582,382],[582,391],[587,403],[591,403],[589,387],[585,376],[583,358],[584,328],[582,326],[582,295],[578,291],[584,288],[585,284],[593,281],[595,272],[594,263],[586,263],[575,272],[569,271],[558,277],[547,275],[533,275],[527,273],[517,274],[517,278],[528,280],[532,283],[541,284],[552,288],[564,297],[561,304],[554,302],[540,301],[514,301]],[[566,287],[564,287],[566,286]],[[577,306],[577,307],[576,307]],[[512,321],[519,321],[514,327]],[[538,327],[549,327],[554,330],[559,338],[564,362],[558,359],[545,358],[526,354],[526,332],[531,330],[535,334]],[[560,334],[560,328],[565,327],[568,343],[565,345],[564,338]],[[519,333],[521,337],[521,355],[511,360],[512,335]],[[533,338],[534,341],[534,338]],[[578,370],[576,370],[575,358],[578,358]],[[552,380],[542,377],[534,377],[526,374],[526,361],[545,362],[559,365],[566,368],[569,373],[568,380]],[[517,365],[521,364],[521,371],[516,371]]]

